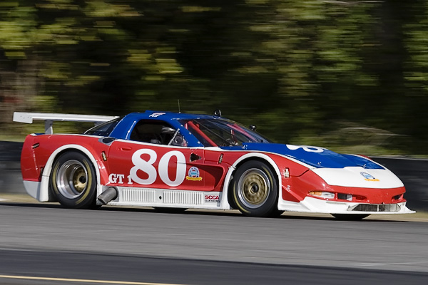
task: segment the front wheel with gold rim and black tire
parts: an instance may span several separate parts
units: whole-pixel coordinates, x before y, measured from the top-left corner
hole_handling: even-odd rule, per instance
[[[270,217],[277,211],[277,180],[264,162],[245,162],[236,170],[232,183],[233,204],[245,216]]]

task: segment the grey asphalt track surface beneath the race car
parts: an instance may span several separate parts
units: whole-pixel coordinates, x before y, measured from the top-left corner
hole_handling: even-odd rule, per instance
[[[0,284],[428,284],[428,223],[0,202]]]

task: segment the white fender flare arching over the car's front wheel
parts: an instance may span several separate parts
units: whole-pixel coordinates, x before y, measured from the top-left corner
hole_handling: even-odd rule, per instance
[[[279,167],[276,165],[275,161],[272,160],[272,158],[269,157],[268,155],[265,155],[265,154],[259,153],[259,152],[251,152],[251,153],[247,153],[247,154],[239,157],[238,160],[235,160],[233,165],[231,165],[229,167],[228,173],[226,174],[226,177],[225,177],[225,184],[223,185],[223,195],[222,195],[221,202],[220,202],[220,209],[230,209],[230,204],[228,202],[228,190],[229,190],[230,181],[232,180],[232,173],[236,170],[237,165],[240,162],[243,162],[243,160],[250,160],[253,157],[261,158],[261,159],[265,160],[275,170],[275,173],[276,173],[277,178],[278,178],[278,202],[277,202],[277,204],[280,204],[282,180],[281,180],[281,172],[280,172]]]

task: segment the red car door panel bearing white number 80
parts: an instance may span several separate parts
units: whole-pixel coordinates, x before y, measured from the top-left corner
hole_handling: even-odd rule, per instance
[[[201,148],[116,140],[108,153],[109,185],[212,191],[218,181],[204,162]]]

